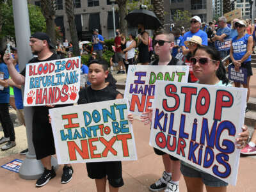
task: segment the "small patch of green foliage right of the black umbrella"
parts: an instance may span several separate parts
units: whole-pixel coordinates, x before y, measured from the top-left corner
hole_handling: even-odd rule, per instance
[[[173,16],[173,21],[175,24],[175,28],[180,28],[181,26],[184,26],[185,29],[190,27],[189,20],[191,18],[191,13],[187,10],[181,11],[176,10],[177,15]]]

